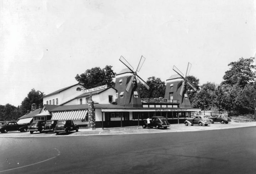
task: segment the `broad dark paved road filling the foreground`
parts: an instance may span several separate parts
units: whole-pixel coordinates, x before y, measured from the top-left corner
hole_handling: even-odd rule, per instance
[[[1,138],[0,173],[255,173],[255,131]]]

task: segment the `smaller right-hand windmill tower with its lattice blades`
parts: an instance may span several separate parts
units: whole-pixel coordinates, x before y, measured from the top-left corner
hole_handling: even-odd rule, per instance
[[[184,76],[183,73],[174,66],[173,70],[177,75],[172,75],[166,80],[165,98],[168,100],[179,100],[180,108],[191,108],[186,86],[189,85],[194,91],[197,91],[197,88],[186,79],[190,69],[191,63],[188,62],[186,75]]]

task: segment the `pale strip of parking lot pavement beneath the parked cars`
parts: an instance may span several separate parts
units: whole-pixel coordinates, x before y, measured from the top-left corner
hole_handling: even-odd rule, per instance
[[[171,124],[167,129],[143,129],[142,126],[133,126],[133,127],[118,127],[118,128],[96,128],[92,129],[79,129],[78,132],[70,133],[60,133],[56,135],[54,132],[51,133],[37,133],[34,132],[18,132],[10,131],[7,133],[0,133],[0,137],[59,137],[59,136],[89,136],[89,135],[120,135],[120,134],[146,134],[146,133],[167,133],[167,132],[192,132],[192,131],[203,131],[203,130],[215,130],[215,129],[231,129],[231,128],[240,128],[240,127],[251,127],[256,126],[256,122],[233,122],[231,121],[228,124],[214,123],[209,124],[208,126],[185,126],[185,124]]]

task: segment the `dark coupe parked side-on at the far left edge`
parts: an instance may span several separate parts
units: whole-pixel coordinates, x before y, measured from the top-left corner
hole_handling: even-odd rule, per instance
[[[15,121],[7,121],[4,124],[0,125],[0,132],[7,133],[8,131],[20,131],[27,132],[27,124],[18,124]]]

